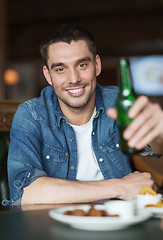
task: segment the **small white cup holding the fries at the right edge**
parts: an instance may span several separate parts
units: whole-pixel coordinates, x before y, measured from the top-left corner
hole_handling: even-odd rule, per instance
[[[162,199],[161,194],[151,195],[151,194],[138,194],[137,196],[137,208],[144,208],[146,205],[156,205]]]

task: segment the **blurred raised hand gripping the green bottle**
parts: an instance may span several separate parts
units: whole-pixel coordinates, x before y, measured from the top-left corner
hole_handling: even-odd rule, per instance
[[[116,119],[117,111],[108,109],[108,116]],[[148,97],[140,96],[130,108],[128,115],[133,119],[123,133],[128,145],[143,149],[151,145],[153,151],[163,154],[163,111],[157,103],[149,101]]]

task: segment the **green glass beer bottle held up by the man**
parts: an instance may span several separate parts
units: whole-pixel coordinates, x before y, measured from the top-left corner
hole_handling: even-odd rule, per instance
[[[116,108],[118,111],[117,125],[119,128],[122,152],[128,155],[132,155],[137,154],[139,150],[130,148],[128,146],[127,141],[123,138],[123,132],[132,121],[132,119],[128,117],[128,110],[135,102],[136,95],[132,87],[129,60],[127,58],[120,58],[118,67],[120,91],[116,102]]]

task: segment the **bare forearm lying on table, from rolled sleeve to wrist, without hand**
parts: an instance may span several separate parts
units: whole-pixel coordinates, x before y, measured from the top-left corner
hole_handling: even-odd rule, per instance
[[[118,197],[119,179],[79,182],[40,177],[24,188],[21,204],[92,202]]]

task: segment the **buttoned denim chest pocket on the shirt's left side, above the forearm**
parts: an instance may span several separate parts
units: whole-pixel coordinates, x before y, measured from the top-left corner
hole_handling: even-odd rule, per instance
[[[42,165],[49,177],[66,178],[68,169],[68,153],[53,146],[42,148]]]

